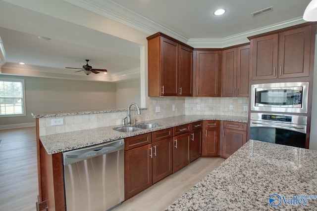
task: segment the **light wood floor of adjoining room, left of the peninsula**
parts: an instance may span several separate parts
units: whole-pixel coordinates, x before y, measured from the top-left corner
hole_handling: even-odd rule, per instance
[[[36,211],[35,127],[0,130],[0,211]]]

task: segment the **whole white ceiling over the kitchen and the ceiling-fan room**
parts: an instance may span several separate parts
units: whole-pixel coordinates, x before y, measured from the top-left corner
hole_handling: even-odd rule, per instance
[[[21,71],[13,71],[21,69],[25,70],[24,75],[35,76],[41,72],[38,76],[79,80],[117,81],[127,79],[119,76],[129,74],[130,78],[138,77],[141,45],[95,30],[93,26],[76,23],[76,20],[92,19],[91,14],[115,20],[146,36],[160,31],[193,47],[225,47],[248,42],[247,36],[303,23],[302,16],[309,2],[0,0],[0,38],[5,52],[2,74],[23,75]],[[272,12],[251,16],[252,12],[270,6],[273,6]],[[54,7],[59,9],[54,10]],[[214,16],[213,11],[220,7],[226,9],[226,13]],[[102,26],[108,23],[100,21],[95,24]],[[38,36],[52,40],[40,40]],[[89,64],[93,68],[107,69],[109,74],[93,76],[92,73],[87,77],[83,72],[74,73],[76,70],[64,68],[80,68],[85,59],[90,59]],[[23,68],[16,65],[20,61],[27,65]]]

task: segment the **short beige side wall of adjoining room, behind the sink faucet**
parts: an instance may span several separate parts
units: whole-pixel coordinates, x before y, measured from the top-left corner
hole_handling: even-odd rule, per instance
[[[130,103],[141,106],[140,78],[116,83],[117,108],[127,109]]]

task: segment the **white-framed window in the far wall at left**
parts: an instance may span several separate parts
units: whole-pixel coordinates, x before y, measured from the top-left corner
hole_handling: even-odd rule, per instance
[[[0,79],[0,117],[26,116],[24,79]]]

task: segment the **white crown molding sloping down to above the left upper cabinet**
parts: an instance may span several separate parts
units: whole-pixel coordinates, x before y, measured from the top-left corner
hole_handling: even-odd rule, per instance
[[[67,1],[68,3],[74,4],[76,6],[82,7],[89,11],[95,12],[99,15],[105,16],[119,23],[125,24],[129,27],[137,29],[148,35],[152,35],[157,32],[162,32],[165,34],[169,34],[175,39],[185,43],[189,39],[184,34],[164,25],[163,23],[160,23],[157,20],[138,14],[136,11],[132,10],[131,8],[127,8],[115,2],[114,0],[105,0],[107,2],[106,7],[99,3],[93,2],[93,0],[64,0],[64,1]]]

